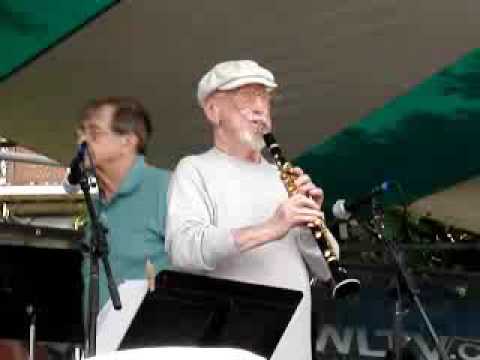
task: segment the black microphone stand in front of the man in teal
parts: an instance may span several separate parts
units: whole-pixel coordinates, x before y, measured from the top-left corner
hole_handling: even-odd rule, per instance
[[[95,172],[95,165],[93,158],[90,154],[87,146],[86,153],[89,157],[92,171]],[[83,164],[82,164],[83,165]],[[107,277],[108,291],[110,298],[112,299],[113,307],[115,310],[122,308],[120,302],[120,294],[112,275],[112,269],[108,262],[108,243],[106,234],[108,230],[98,219],[97,212],[93,205],[92,196],[90,194],[90,183],[88,181],[88,175],[84,166],[81,167],[80,175],[80,188],[83,191],[85,197],[85,203],[87,204],[88,214],[91,222],[91,234],[90,244],[88,245],[88,253],[90,258],[90,285],[88,289],[88,319],[87,319],[87,343],[86,343],[86,355],[87,357],[95,356],[97,351],[96,339],[97,339],[97,316],[99,313],[99,259],[103,262],[105,269],[105,275]],[[98,184],[97,184],[98,186]]]

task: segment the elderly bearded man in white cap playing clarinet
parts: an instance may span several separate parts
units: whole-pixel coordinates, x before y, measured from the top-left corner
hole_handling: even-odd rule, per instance
[[[311,296],[307,266],[330,272],[308,224],[323,218],[323,191],[294,168],[288,196],[265,160],[273,74],[250,60],[215,65],[198,84],[213,147],[183,158],[169,187],[166,250],[185,271],[303,292],[272,359],[310,360]],[[338,245],[336,251],[338,252]]]

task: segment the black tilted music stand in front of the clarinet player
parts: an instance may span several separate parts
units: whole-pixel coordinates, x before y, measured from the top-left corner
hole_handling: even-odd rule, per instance
[[[233,347],[270,358],[302,297],[300,291],[162,271],[120,349]]]

